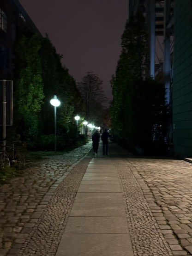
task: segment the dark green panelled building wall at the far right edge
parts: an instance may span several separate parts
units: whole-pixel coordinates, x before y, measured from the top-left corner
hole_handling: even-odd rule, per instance
[[[192,6],[174,1],[174,155],[192,158]]]

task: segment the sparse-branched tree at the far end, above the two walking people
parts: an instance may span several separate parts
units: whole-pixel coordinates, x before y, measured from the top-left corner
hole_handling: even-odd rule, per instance
[[[84,99],[84,118],[89,122],[100,122],[102,110],[108,104],[109,99],[105,96],[102,85],[103,81],[93,72],[87,72],[78,83]]]

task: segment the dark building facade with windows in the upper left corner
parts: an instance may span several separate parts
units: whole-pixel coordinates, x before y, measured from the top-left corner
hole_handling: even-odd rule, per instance
[[[12,79],[15,39],[25,26],[41,36],[18,0],[0,0],[0,79]]]

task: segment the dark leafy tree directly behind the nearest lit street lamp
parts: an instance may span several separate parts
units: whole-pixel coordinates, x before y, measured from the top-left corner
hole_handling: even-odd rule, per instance
[[[57,108],[58,134],[71,129],[74,122],[74,113],[81,109],[82,98],[76,87],[75,80],[66,67],[62,67],[62,55],[56,53],[54,46],[48,38],[42,38],[42,48],[39,51],[42,63],[42,80],[44,83],[44,105],[42,106],[43,133],[54,132],[54,107],[50,99],[57,95],[61,105]],[[80,113],[79,113],[80,114]]]

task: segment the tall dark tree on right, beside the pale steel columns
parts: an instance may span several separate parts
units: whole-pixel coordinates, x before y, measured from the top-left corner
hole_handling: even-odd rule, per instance
[[[112,76],[111,124],[124,146],[135,152],[148,152],[153,143],[154,125],[165,125],[164,85],[147,75],[149,51],[147,30],[138,11],[126,22],[121,37],[122,52]],[[158,118],[157,118],[158,116]]]

